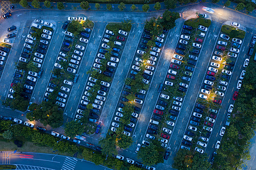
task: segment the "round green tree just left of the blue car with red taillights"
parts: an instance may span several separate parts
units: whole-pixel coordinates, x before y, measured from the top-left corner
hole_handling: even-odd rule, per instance
[[[71,121],[65,124],[65,134],[74,138],[75,135],[80,135],[84,132],[83,126],[77,121]]]

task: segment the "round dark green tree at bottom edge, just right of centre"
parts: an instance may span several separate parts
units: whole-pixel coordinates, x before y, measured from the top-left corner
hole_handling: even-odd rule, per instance
[[[163,156],[159,154],[157,147],[150,143],[147,147],[141,147],[137,157],[142,160],[142,163],[148,166],[163,162]]]

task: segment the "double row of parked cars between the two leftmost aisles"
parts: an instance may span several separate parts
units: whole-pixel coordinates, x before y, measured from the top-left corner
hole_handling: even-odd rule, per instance
[[[31,29],[30,33],[27,35],[25,39],[25,43],[23,45],[23,50],[22,53],[20,54],[19,57],[19,63],[20,62],[25,62],[28,63],[32,59],[32,63],[36,67],[38,67],[38,71],[31,71],[29,70],[28,73],[25,73],[24,70],[22,69],[16,69],[14,78],[13,78],[13,83],[11,83],[10,87],[10,94],[7,95],[7,97],[13,99],[13,86],[15,86],[17,83],[22,83],[22,79],[26,79],[24,83],[24,88],[23,88],[23,94],[22,96],[24,99],[29,100],[30,96],[32,95],[32,91],[34,90],[34,86],[36,84],[36,81],[38,78],[41,77],[43,70],[40,69],[43,65],[43,59],[46,56],[48,45],[50,44],[51,41],[51,36],[53,34],[52,31],[49,31],[46,28],[42,28],[42,25],[52,28],[53,24],[49,22],[44,22],[43,20],[35,19],[34,23],[31,24]],[[32,33],[35,33],[34,28],[38,29],[43,29],[43,33],[41,35],[40,40],[36,40],[36,37],[32,36]],[[52,30],[52,29],[51,29]],[[47,38],[46,38],[47,37]],[[35,46],[37,48],[35,49]],[[23,77],[26,76],[26,77]]]

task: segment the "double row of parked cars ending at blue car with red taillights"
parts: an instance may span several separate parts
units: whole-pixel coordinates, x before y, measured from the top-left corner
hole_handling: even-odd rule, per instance
[[[100,49],[98,49],[98,53],[93,63],[92,69],[98,71],[98,73],[100,74],[104,74],[105,76],[112,78],[115,73],[115,68],[118,66],[118,62],[119,62],[118,56],[121,56],[119,54],[122,53],[122,48],[125,45],[125,40],[127,35],[128,33],[121,29],[118,31],[118,35],[115,35],[113,31],[106,29],[105,34],[102,37],[102,43],[100,45]],[[106,59],[105,53],[108,53],[108,49],[110,48],[110,46],[108,45],[108,42],[112,37],[115,37],[115,36],[116,36],[116,40],[114,41],[115,46],[112,52],[110,52],[111,54],[110,61],[106,63],[106,70],[102,71],[101,70],[102,63],[104,63],[104,60]],[[89,121],[95,123],[100,117],[99,114],[101,114],[100,112],[104,105],[104,101],[106,101],[106,97],[110,87],[110,82],[105,82],[103,80],[98,80],[96,78],[93,78],[92,76],[89,76],[88,82],[86,83],[85,92],[82,95],[82,99],[80,100],[80,104],[77,109],[77,114],[75,116],[77,120],[83,117],[82,113],[86,109],[86,105],[88,105],[90,102],[89,96],[91,94],[89,90],[95,85],[97,81],[100,81],[101,87],[100,87],[100,90],[97,91],[96,99],[94,99],[93,101],[93,104],[92,104],[93,109],[89,114],[90,116]],[[100,128],[100,125],[98,125],[97,127]],[[99,130],[100,129],[96,129],[96,133],[99,133]]]

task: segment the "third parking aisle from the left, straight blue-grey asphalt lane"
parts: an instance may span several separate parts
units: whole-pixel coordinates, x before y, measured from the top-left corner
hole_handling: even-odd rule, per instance
[[[68,121],[72,121],[76,114],[77,105],[79,104],[81,94],[84,90],[86,80],[88,78],[88,74],[86,71],[90,70],[92,67],[92,63],[94,58],[96,57],[96,52],[98,49],[98,45],[102,39],[102,33],[106,27],[106,24],[94,23],[93,32],[91,34],[90,40],[87,45],[86,52],[84,57],[82,57],[82,62],[79,69],[79,78],[77,79],[77,83],[73,84],[72,93],[69,95],[67,107],[64,111],[64,124]]]

